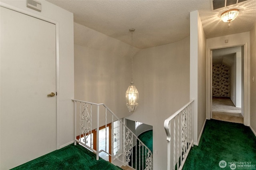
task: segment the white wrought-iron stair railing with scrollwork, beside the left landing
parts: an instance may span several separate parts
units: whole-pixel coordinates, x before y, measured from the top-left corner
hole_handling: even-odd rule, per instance
[[[141,166],[142,166],[142,169],[147,169],[147,170],[152,170],[152,156],[153,156],[153,154],[152,154],[152,152],[151,152],[151,150],[136,136],[136,134],[134,134],[134,132],[132,132],[104,103],[92,103],[92,102],[87,102],[87,101],[80,101],[80,100],[76,100],[76,99],[72,99],[72,101],[74,101],[74,103],[75,103],[75,144],[76,144],[76,142],[78,142],[78,143],[80,143],[80,144],[82,144],[83,146],[85,146],[86,148],[89,148],[90,150],[92,150],[93,152],[95,152],[96,153],[96,159],[98,160],[99,159],[99,153],[100,152],[105,152],[106,154],[108,154],[108,155],[110,155],[113,159],[117,159],[117,160],[119,160],[119,161],[121,161],[121,162],[123,162],[124,164],[126,164],[126,165],[128,165],[128,166],[135,166],[135,169],[137,169],[138,167],[138,165],[140,166],[140,168],[141,168]],[[82,119],[83,119],[83,121],[84,121],[84,119],[86,119],[87,121],[88,121],[88,123],[90,124],[90,126],[92,127],[92,116],[96,116],[97,117],[97,122],[96,122],[96,124],[97,124],[97,131],[99,131],[99,119],[100,119],[100,108],[99,108],[99,106],[103,106],[104,108],[105,108],[105,123],[107,124],[107,113],[111,113],[111,115],[112,115],[112,123],[113,123],[113,120],[114,120],[114,118],[115,118],[115,120],[116,121],[118,121],[119,123],[120,123],[120,128],[122,129],[121,131],[120,131],[120,134],[122,134],[121,136],[123,136],[123,139],[121,140],[122,141],[122,152],[120,153],[120,154],[122,154],[123,156],[122,156],[122,160],[119,158],[120,156],[114,156],[114,155],[112,155],[111,153],[112,152],[110,152],[110,153],[108,153],[106,150],[99,150],[99,133],[97,133],[96,134],[96,150],[94,150],[93,148],[91,148],[90,146],[88,146],[88,145],[86,145],[86,143],[82,143],[80,140],[77,140],[76,139],[76,114],[77,114],[77,110],[76,110],[76,102],[78,102],[78,103],[80,103],[80,125],[82,125],[82,126],[84,126],[85,127],[85,125],[82,123],[81,124],[81,116],[82,116]],[[84,103],[84,104],[82,104],[82,103]],[[83,110],[83,112],[82,112],[82,114],[84,114],[85,112],[87,113],[87,115],[82,115],[81,114],[81,104],[82,105],[84,105],[84,106],[86,106],[86,109],[84,109]],[[90,105],[90,107],[89,108],[91,108],[91,110],[90,110],[90,115],[89,115],[89,112],[88,112],[88,110],[87,110],[87,108],[88,108],[88,106]],[[92,115],[92,105],[95,105],[95,106],[97,106],[97,113],[96,114],[93,114]],[[83,106],[83,107],[84,107]],[[108,112],[107,112],[108,111]],[[79,111],[78,111],[79,112]],[[86,124],[86,128],[88,128],[88,129],[90,129],[89,131],[91,131],[92,132],[92,129],[91,129],[91,127],[88,127],[87,126],[88,124]],[[105,125],[106,126],[106,125]],[[113,128],[113,127],[112,127]],[[86,129],[87,131],[88,131],[88,129]],[[113,130],[113,129],[112,129]],[[112,132],[112,130],[111,130],[111,133],[113,133]],[[85,132],[82,132],[82,134],[83,134],[83,136],[85,136],[84,134],[85,134]],[[81,127],[80,127],[80,136],[81,136]],[[80,137],[81,138],[81,137]],[[113,139],[113,134],[112,134],[112,137],[111,137],[112,139]],[[120,138],[121,139],[121,138]],[[84,140],[86,140],[85,139],[85,137],[84,137]],[[87,141],[87,140],[86,140]],[[121,142],[120,141],[120,142]],[[134,144],[133,142],[135,141],[135,145],[136,145],[136,151],[134,152],[135,153],[135,157],[133,158],[133,156],[132,156],[132,145]],[[112,140],[112,145],[113,145],[113,140]],[[121,143],[120,143],[121,144]],[[138,144],[138,147],[137,147],[137,144]],[[137,149],[139,149],[139,152],[137,152]],[[145,160],[143,160],[143,162],[142,162],[142,164],[140,164],[141,162],[138,162],[138,164],[137,164],[137,161],[133,164],[133,159],[134,160],[137,160],[137,154],[138,153],[140,153],[140,149],[142,149],[142,151],[143,151],[143,153],[142,153],[142,157],[143,157],[143,159],[145,159]],[[110,151],[110,150],[109,150]],[[130,158],[130,156],[131,156],[131,158]],[[139,161],[140,161],[140,158],[141,156],[139,156]],[[126,160],[124,160],[124,159],[126,159]],[[144,167],[144,164],[145,164],[145,167]],[[134,168],[134,167],[133,167]],[[140,169],[139,168],[139,169]]]

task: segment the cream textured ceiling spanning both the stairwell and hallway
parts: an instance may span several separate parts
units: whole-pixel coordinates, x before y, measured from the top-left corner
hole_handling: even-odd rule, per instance
[[[190,35],[190,12],[198,10],[206,38],[250,31],[256,21],[256,0],[234,5],[240,14],[228,23],[211,10],[210,0],[47,0],[74,13],[74,22],[107,36],[147,48],[177,42]],[[75,40],[76,42],[77,40]]]

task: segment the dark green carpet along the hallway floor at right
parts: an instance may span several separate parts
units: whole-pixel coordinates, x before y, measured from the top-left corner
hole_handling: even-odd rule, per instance
[[[253,170],[255,165],[256,137],[250,127],[211,119],[206,121],[199,146],[191,148],[183,170]]]

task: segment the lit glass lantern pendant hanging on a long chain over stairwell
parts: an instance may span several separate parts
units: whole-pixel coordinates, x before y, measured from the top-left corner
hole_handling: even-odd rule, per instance
[[[131,28],[129,30],[132,33],[132,71],[133,71],[133,32],[135,31],[134,28]],[[132,73],[133,74],[133,73]],[[131,81],[131,85],[129,85],[126,93],[125,93],[125,97],[126,97],[126,106],[128,107],[128,110],[130,112],[134,112],[136,110],[136,108],[138,107],[139,103],[139,92],[136,89],[135,85],[133,85],[133,78]]]

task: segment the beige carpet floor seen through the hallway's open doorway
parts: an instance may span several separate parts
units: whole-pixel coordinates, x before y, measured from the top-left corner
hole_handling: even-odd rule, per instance
[[[212,98],[212,119],[233,123],[244,123],[241,108],[235,107],[227,97]]]

